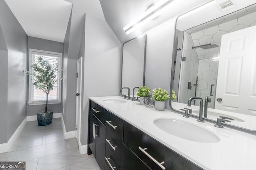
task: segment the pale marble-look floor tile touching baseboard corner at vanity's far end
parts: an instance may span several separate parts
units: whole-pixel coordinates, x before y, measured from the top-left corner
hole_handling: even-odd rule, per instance
[[[58,154],[39,158],[37,170],[56,170],[58,168],[76,164],[90,158],[92,158],[91,155],[80,155],[78,149],[72,149]]]

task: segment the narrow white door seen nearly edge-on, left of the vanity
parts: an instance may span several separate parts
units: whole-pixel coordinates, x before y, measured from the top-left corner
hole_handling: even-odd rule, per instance
[[[83,57],[80,57],[77,61],[76,67],[76,139],[78,145],[80,145],[80,134],[81,134],[81,111],[82,111],[82,103],[81,103],[81,96],[82,95],[82,61]],[[79,95],[78,95],[79,94]]]

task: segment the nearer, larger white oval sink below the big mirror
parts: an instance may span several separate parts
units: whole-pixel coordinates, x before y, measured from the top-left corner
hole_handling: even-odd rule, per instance
[[[161,130],[189,141],[200,143],[217,143],[220,139],[202,127],[176,119],[156,119],[154,124]]]

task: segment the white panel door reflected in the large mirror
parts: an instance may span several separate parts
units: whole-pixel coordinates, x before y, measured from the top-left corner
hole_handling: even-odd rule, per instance
[[[256,26],[222,35],[215,109],[254,115],[255,69]]]

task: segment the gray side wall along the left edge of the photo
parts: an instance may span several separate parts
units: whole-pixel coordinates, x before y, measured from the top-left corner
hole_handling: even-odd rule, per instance
[[[0,143],[6,143],[26,117],[27,35],[5,1],[0,1],[0,26],[8,51],[1,40]]]

